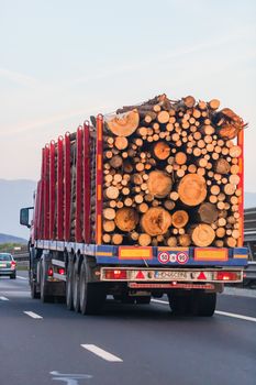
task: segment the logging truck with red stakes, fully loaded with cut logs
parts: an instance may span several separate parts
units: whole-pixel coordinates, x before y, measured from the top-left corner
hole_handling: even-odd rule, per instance
[[[33,298],[91,315],[107,296],[167,295],[174,314],[214,314],[216,293],[241,283],[247,264],[246,124],[219,107],[160,95],[43,147],[34,207],[20,212]]]

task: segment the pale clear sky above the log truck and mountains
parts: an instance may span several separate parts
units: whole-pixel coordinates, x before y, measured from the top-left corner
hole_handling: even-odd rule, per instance
[[[51,139],[163,92],[249,122],[256,191],[255,0],[0,0],[0,178],[37,179]]]

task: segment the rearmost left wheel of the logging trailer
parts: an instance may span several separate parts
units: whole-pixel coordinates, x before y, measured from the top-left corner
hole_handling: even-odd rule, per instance
[[[87,263],[82,262],[80,270],[80,310],[82,315],[99,314],[104,305],[107,293],[101,284],[88,283]]]

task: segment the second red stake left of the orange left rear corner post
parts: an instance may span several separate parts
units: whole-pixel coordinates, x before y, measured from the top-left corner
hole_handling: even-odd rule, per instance
[[[82,128],[77,129],[77,158],[76,158],[76,242],[82,241],[81,233],[81,188],[82,188]]]

